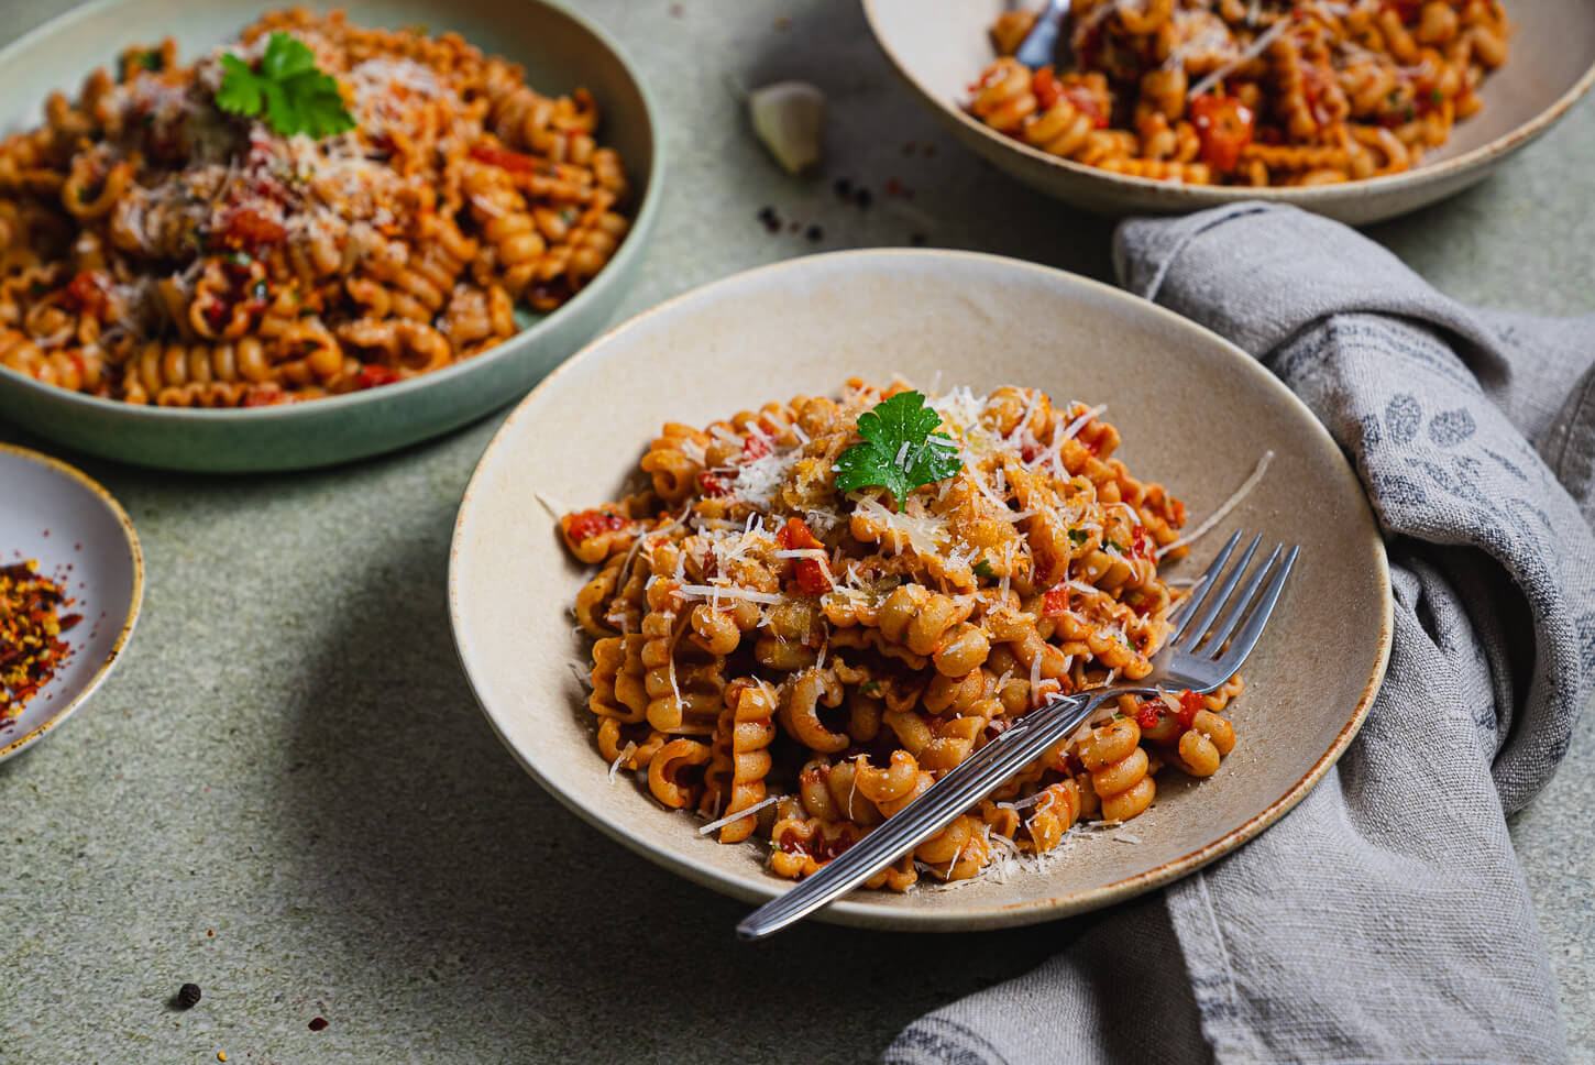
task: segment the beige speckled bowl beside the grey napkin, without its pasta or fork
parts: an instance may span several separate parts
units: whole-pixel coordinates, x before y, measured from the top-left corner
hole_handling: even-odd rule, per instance
[[[1246,665],[1239,746],[1199,784],[1169,773],[1128,829],[1139,845],[1077,831],[1045,874],[855,893],[823,918],[959,929],[1086,910],[1212,861],[1298,802],[1362,724],[1389,650],[1384,550],[1356,475],[1308,410],[1219,336],[1093,281],[960,252],[845,252],[737,274],[600,338],[510,415],[459,507],[448,596],[466,674],[526,770],[699,883],[750,902],[788,886],[764,872],[756,845],[715,843],[630,775],[608,781],[571,670],[587,654],[571,619],[587,571],[566,556],[538,494],[569,507],[616,497],[667,419],[705,424],[772,399],[834,394],[850,375],[893,373],[1109,403],[1120,454],[1177,491],[1193,523],[1273,448],[1258,489],[1171,572],[1199,572],[1241,526],[1302,544],[1302,560]]]

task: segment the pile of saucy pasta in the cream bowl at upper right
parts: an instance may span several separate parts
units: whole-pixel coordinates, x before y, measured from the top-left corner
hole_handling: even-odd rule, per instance
[[[1075,0],[1067,69],[1000,56],[970,108],[1042,151],[1188,185],[1325,185],[1399,174],[1479,112],[1507,57],[1496,0]]]

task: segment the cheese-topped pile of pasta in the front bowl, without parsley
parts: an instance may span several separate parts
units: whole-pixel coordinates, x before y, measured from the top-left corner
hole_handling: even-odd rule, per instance
[[[839,493],[858,416],[904,389],[853,379],[839,402],[667,424],[644,491],[560,520],[600,568],[576,617],[611,778],[635,772],[721,842],[758,835],[783,877],[813,874],[1048,698],[1145,678],[1180,596],[1158,560],[1185,553],[1185,507],[1113,458],[1101,410],[1037,389],[931,399],[959,472],[901,501]],[[1006,870],[1080,818],[1137,816],[1160,768],[1219,770],[1239,690],[1109,703],[869,885]]]

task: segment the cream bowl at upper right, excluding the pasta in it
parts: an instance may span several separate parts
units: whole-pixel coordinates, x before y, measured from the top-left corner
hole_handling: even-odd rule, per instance
[[[1595,84],[1595,5],[1517,0],[1512,54],[1480,91],[1483,110],[1405,174],[1311,188],[1214,188],[1123,177],[1006,137],[963,110],[994,59],[987,27],[1011,0],[863,0],[876,43],[909,91],[968,148],[1026,185],[1104,215],[1183,214],[1265,199],[1365,225],[1482,182],[1550,129]],[[1038,0],[1022,0],[1038,6]]]

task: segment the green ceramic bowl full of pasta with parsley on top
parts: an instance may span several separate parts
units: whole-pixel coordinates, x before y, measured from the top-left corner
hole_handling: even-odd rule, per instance
[[[325,466],[522,395],[659,202],[641,80],[557,3],[100,0],[0,51],[0,416]]]

